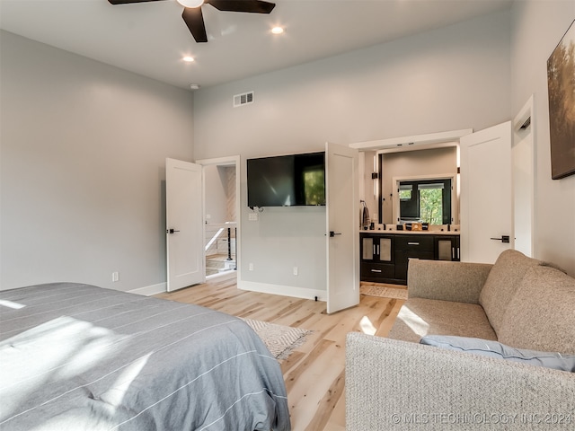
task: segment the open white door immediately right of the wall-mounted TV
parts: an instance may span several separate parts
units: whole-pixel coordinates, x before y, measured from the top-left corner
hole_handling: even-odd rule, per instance
[[[358,150],[326,144],[327,312],[359,303]]]

